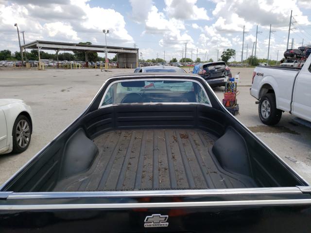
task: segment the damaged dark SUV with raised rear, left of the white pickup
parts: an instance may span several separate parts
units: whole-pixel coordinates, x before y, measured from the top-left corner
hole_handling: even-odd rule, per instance
[[[230,68],[222,61],[200,63],[192,72],[204,78],[210,86],[225,86],[225,77],[232,77]]]

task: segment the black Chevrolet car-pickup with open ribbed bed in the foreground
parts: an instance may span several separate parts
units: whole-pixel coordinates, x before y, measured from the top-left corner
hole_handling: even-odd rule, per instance
[[[305,233],[308,185],[198,75],[117,75],[0,187],[0,230]]]

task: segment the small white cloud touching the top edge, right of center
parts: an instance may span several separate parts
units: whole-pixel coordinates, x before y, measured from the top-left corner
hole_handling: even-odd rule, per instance
[[[207,10],[195,5],[196,0],[165,0],[166,8],[164,11],[169,17],[176,19],[205,19],[209,20]]]

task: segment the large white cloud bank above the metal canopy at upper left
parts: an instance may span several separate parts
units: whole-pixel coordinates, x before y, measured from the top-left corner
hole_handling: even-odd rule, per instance
[[[18,50],[14,23],[20,31],[25,31],[26,43],[52,40],[104,44],[103,29],[110,30],[107,35],[110,45],[126,46],[134,41],[125,29],[124,17],[113,9],[91,7],[87,0],[33,2],[0,1],[0,49]]]

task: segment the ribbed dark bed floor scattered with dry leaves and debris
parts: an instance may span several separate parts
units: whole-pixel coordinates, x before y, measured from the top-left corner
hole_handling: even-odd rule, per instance
[[[54,191],[121,191],[255,187],[232,174],[211,152],[214,136],[201,130],[122,130],[94,139],[99,153],[91,168]]]

